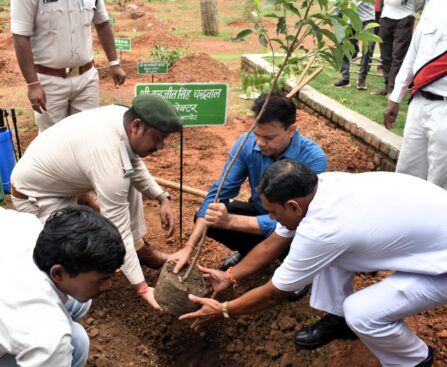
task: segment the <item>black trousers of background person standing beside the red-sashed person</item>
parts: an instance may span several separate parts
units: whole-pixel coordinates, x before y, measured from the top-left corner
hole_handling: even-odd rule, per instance
[[[413,35],[414,17],[409,15],[403,19],[380,18],[379,36],[380,57],[382,58],[385,87],[391,93],[400,66],[410,47]]]

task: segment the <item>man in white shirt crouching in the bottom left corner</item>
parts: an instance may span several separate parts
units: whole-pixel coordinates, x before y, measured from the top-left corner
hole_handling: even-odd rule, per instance
[[[0,366],[84,366],[78,321],[124,261],[118,230],[88,208],[54,212],[43,229],[34,215],[0,208],[0,228]]]

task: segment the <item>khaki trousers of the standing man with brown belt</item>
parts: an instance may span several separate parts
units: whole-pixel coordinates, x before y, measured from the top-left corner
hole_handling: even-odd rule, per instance
[[[47,97],[47,111],[34,112],[39,133],[67,116],[99,107],[99,77],[94,67],[68,78],[45,74],[38,77]]]

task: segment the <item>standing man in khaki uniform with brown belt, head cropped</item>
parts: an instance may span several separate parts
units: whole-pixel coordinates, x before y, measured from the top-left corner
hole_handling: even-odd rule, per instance
[[[92,22],[116,85],[126,73],[103,0],[11,0],[11,32],[39,132],[99,106]]]

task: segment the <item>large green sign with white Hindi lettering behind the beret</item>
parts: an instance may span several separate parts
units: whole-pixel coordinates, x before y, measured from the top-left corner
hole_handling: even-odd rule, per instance
[[[158,94],[169,101],[183,126],[224,125],[227,119],[228,85],[224,83],[137,84],[135,94]]]

